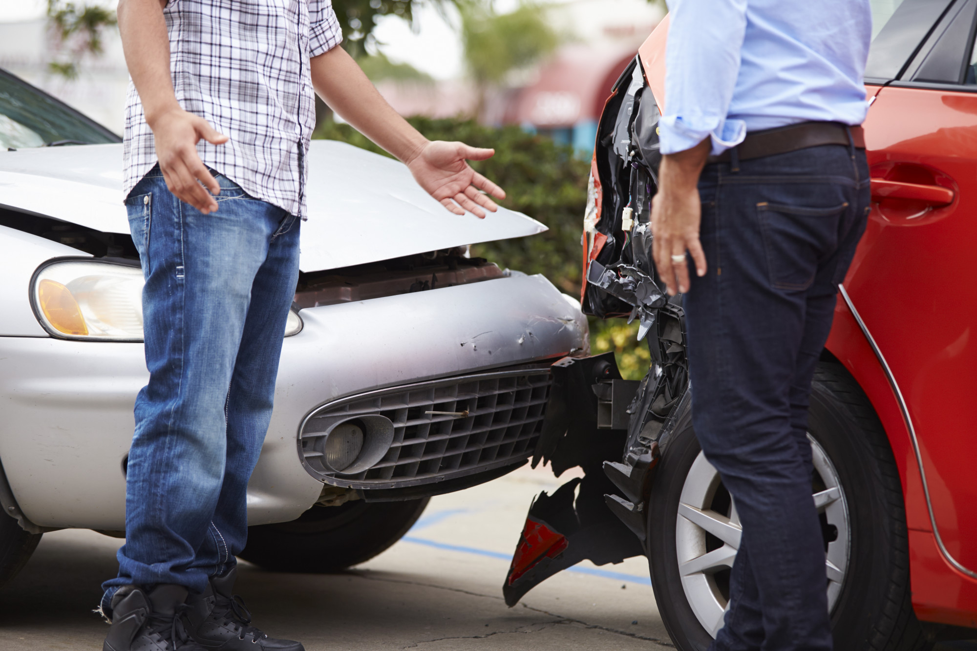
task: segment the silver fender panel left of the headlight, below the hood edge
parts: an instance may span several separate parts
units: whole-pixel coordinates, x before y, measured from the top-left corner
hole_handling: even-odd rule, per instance
[[[0,186],[0,190],[2,190]],[[46,337],[30,308],[30,279],[37,267],[51,258],[86,254],[50,239],[38,238],[0,226],[0,336]]]

